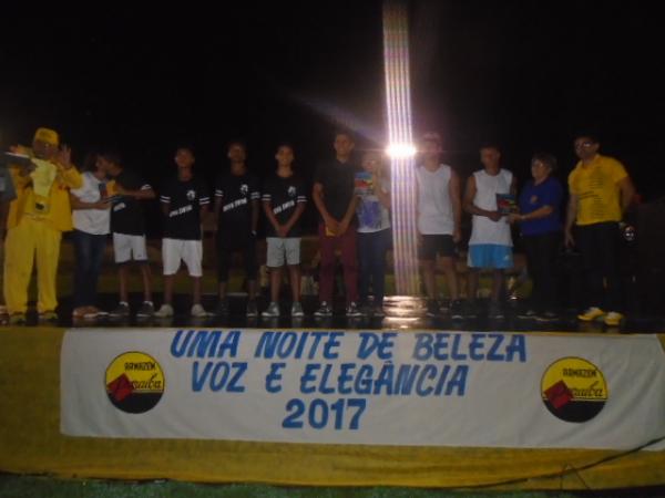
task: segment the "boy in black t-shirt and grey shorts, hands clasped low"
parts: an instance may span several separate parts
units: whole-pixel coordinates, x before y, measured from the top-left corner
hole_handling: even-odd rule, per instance
[[[307,197],[303,180],[294,174],[294,149],[288,144],[277,148],[277,172],[266,179],[263,207],[268,218],[267,266],[270,269],[270,304],[262,317],[279,317],[282,267],[286,260],[291,287],[291,317],[303,317],[300,304],[300,217]]]

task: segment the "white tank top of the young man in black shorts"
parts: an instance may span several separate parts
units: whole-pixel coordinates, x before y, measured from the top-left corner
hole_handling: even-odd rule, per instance
[[[452,169],[439,165],[436,172],[424,166],[416,169],[418,181],[418,231],[423,235],[452,235],[454,217],[450,199]]]

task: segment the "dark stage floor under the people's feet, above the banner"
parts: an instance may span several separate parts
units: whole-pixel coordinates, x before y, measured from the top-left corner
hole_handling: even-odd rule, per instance
[[[112,310],[117,304],[116,294],[101,294],[100,305],[104,310]],[[337,302],[335,314],[330,318],[316,318],[314,311],[318,307],[318,300],[314,297],[305,297],[303,305],[305,317],[294,319],[289,315],[290,303],[282,302],[282,317],[278,319],[264,319],[262,317],[249,319],[245,317],[247,298],[243,293],[229,295],[229,314],[226,317],[211,315],[204,319],[190,317],[191,299],[187,295],[175,297],[175,315],[171,319],[157,319],[155,317],[142,319],[135,315],[135,310],[141,305],[141,295],[131,294],[130,303],[132,314],[127,319],[117,320],[102,317],[96,320],[72,320],[72,304],[70,298],[61,299],[58,309],[59,321],[52,325],[69,326],[202,326],[202,328],[291,328],[291,329],[347,329],[347,330],[379,330],[379,329],[427,329],[427,330],[456,330],[456,331],[532,331],[532,332],[589,332],[589,333],[659,333],[665,332],[665,315],[636,315],[630,314],[621,326],[606,326],[603,323],[584,323],[576,319],[575,310],[562,310],[559,319],[550,322],[541,322],[535,319],[522,319],[519,317],[523,310],[523,303],[518,300],[507,300],[504,305],[505,319],[490,320],[487,313],[487,301],[480,300],[481,312],[478,318],[451,320],[443,305],[437,318],[424,315],[424,302],[420,299],[387,297],[385,318],[347,318],[345,315],[344,302]],[[258,299],[259,311],[267,307],[264,298]],[[161,301],[155,302],[158,309]],[[204,307],[214,311],[216,297],[204,295]],[[28,326],[44,325],[39,323],[37,312],[32,309],[28,313]]]

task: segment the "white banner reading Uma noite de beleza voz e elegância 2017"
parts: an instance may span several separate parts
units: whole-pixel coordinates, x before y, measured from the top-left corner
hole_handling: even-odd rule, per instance
[[[665,435],[665,354],[654,335],[75,329],[61,429],[630,449]]]

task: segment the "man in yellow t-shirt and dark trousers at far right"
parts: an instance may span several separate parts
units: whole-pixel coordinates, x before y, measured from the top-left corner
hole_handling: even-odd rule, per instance
[[[569,176],[565,243],[580,250],[590,301],[589,309],[577,318],[618,325],[624,318],[620,311],[618,224],[635,187],[618,160],[598,154],[594,136],[579,135],[574,147],[580,162]]]

